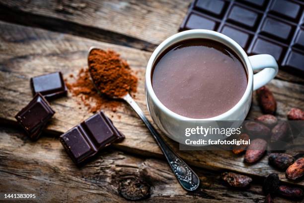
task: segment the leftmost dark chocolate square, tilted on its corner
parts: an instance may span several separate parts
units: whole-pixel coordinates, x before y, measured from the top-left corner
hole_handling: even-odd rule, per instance
[[[37,93],[33,100],[17,113],[15,118],[29,137],[35,140],[38,139],[54,113],[55,111],[51,108],[49,102],[40,93]]]

